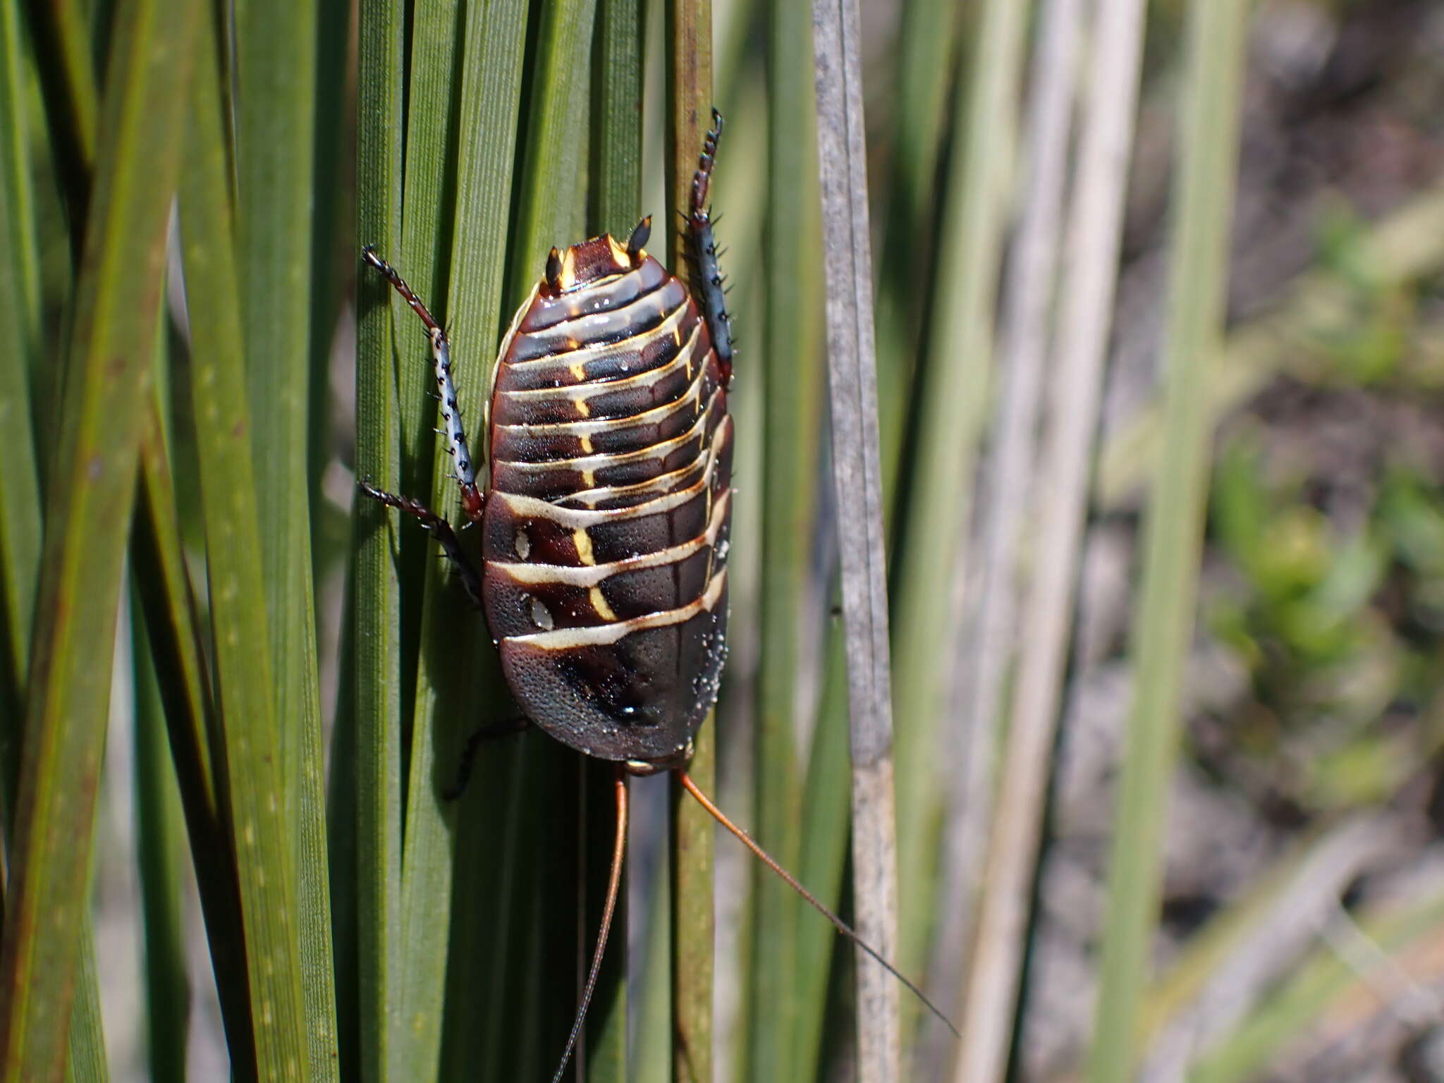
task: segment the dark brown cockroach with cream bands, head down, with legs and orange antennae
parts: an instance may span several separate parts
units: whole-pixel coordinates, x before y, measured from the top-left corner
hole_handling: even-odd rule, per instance
[[[552,250],[492,370],[485,491],[462,427],[446,331],[386,260],[362,250],[426,325],[462,511],[481,524],[481,567],[443,517],[365,481],[361,490],[420,520],[455,562],[485,609],[527,719],[618,765],[602,927],[554,1080],[570,1058],[606,949],[627,774],[673,771],[718,823],[943,1018],[687,775],[692,738],[716,700],[726,656],[732,520],[732,336],[708,208],[722,133],[716,110],[712,121],[686,217],[690,289],[643,247],[651,218],[625,244],[604,234]],[[466,767],[464,760],[462,780]]]

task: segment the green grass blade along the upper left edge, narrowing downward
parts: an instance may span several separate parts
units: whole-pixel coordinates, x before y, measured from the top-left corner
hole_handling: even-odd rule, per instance
[[[30,427],[29,373],[40,355],[30,143],[20,74],[20,13],[0,0],[0,726],[7,762],[0,786],[13,810],[30,619],[40,578],[40,484]],[[9,817],[7,817],[9,822]]]

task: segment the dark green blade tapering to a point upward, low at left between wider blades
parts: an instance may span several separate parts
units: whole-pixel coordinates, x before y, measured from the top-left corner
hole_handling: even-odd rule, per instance
[[[134,596],[134,591],[131,591]],[[136,667],[136,842],[146,930],[146,1028],[150,1077],[183,1083],[191,979],[185,953],[185,822],[166,739],[150,640],[131,606]]]

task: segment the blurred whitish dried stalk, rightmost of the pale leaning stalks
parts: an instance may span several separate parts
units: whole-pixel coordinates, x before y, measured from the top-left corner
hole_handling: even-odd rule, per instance
[[[1141,0],[1105,0],[1093,27],[1069,209],[1053,397],[1037,501],[1038,550],[1022,619],[1008,747],[969,973],[956,1079],[999,1079],[1021,979],[1028,890],[1047,801],[1073,585],[1087,508],[1089,464],[1102,390],[1122,232],[1142,51]]]

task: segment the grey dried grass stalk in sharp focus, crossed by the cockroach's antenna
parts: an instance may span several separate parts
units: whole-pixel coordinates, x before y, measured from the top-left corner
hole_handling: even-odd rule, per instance
[[[887,559],[878,451],[872,256],[856,0],[814,0],[817,159],[827,277],[827,393],[838,488],[842,609],[852,732],[852,856],[856,927],[884,956],[897,941],[892,819],[892,693]],[[897,1080],[897,982],[861,950],[858,1079]]]

